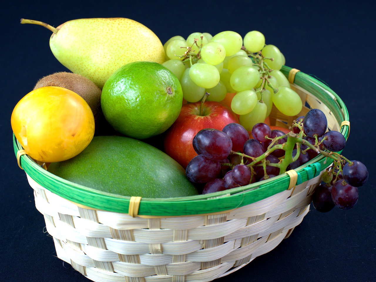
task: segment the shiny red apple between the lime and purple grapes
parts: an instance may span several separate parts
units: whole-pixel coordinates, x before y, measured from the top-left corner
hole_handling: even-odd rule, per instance
[[[219,102],[206,101],[188,103],[182,106],[179,117],[167,130],[164,138],[164,151],[175,159],[183,168],[197,156],[193,149],[194,136],[201,129],[214,128],[222,130],[229,123],[239,123],[238,117],[229,107]]]

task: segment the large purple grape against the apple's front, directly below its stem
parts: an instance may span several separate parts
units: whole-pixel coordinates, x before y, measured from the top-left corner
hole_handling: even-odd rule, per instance
[[[192,144],[193,148],[196,147],[206,158],[215,161],[226,159],[232,148],[230,137],[223,131],[212,128],[200,130],[196,136],[194,136]]]

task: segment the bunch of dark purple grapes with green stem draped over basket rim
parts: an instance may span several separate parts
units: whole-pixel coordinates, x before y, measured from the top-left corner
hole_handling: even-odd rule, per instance
[[[212,193],[275,177],[320,153],[333,159],[335,170],[324,174],[327,184],[315,192],[314,207],[321,212],[335,205],[350,209],[358,200],[357,187],[367,182],[368,171],[361,162],[337,153],[346,140],[340,132],[326,130],[327,120],[319,109],[299,117],[287,134],[271,130],[265,123],[253,126],[252,138],[237,123],[227,124],[223,130],[202,129],[193,139],[198,155],[186,167],[186,176],[191,182],[206,183],[203,194]]]

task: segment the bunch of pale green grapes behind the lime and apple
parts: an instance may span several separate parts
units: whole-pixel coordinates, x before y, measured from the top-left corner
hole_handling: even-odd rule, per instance
[[[173,36],[164,48],[163,65],[180,80],[187,102],[201,100],[205,92],[210,94],[207,100],[217,102],[236,93],[231,109],[248,131],[269,116],[273,104],[288,116],[302,110],[299,95],[280,71],[284,56],[276,46],[265,45],[259,31],[244,38],[233,31],[214,36],[195,32],[186,39]]]

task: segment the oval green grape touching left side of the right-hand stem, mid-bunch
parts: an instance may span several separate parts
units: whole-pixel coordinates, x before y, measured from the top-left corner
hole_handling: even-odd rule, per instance
[[[259,72],[250,66],[236,69],[230,77],[230,84],[237,92],[252,89],[259,82]]]

